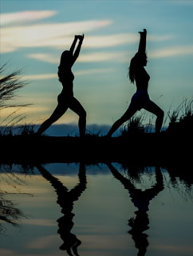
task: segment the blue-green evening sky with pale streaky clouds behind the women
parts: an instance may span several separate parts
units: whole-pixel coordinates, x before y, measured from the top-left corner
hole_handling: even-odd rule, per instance
[[[74,34],[85,34],[73,66],[74,95],[88,123],[108,124],[128,108],[136,87],[130,59],[148,30],[149,95],[166,113],[192,96],[193,1],[17,1],[1,0],[1,65],[22,69],[29,81],[19,103],[32,103],[25,122],[41,123],[57,105],[57,66]],[[8,111],[8,110],[6,110]],[[7,112],[2,113],[6,115]],[[77,122],[71,110],[57,123]]]

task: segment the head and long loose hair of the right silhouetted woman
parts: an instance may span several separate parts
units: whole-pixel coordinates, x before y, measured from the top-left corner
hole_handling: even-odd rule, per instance
[[[146,66],[147,62],[148,58],[146,53],[137,52],[136,55],[131,59],[128,75],[132,83],[134,83],[136,69],[140,66]]]

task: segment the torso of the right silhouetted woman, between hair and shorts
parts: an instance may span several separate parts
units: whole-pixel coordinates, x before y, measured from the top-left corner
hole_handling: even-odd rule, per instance
[[[148,75],[144,67],[138,68],[135,74],[137,90],[148,90],[149,79],[150,79],[150,76]]]

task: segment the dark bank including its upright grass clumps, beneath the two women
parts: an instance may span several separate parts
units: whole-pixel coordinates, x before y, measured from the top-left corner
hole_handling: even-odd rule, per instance
[[[37,136],[33,126],[23,126],[18,135],[0,134],[0,162],[130,162],[178,165],[191,161],[193,111],[192,102],[184,101],[177,110],[168,112],[166,130],[149,132],[139,116],[122,128],[119,137],[100,134],[79,137]],[[147,128],[148,127],[148,128]]]

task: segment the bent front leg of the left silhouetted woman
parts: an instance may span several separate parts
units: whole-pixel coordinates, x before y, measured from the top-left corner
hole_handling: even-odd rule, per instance
[[[74,98],[69,103],[69,109],[73,110],[77,115],[79,115],[79,121],[78,121],[78,127],[79,127],[79,133],[81,137],[85,136],[85,130],[86,130],[86,111],[83,106],[81,106],[81,103],[77,100],[77,98]]]

